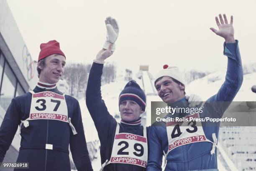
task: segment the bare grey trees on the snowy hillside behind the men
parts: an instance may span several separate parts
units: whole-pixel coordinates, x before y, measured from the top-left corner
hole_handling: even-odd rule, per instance
[[[65,67],[63,79],[67,81],[69,85],[69,95],[75,98],[84,98],[85,90],[87,87],[88,75],[90,72],[91,64],[71,63]],[[243,65],[243,73],[256,72],[256,63]],[[132,70],[125,70],[125,80],[132,79]],[[190,83],[198,78],[205,77],[209,72],[200,72],[197,70],[190,70],[185,72],[185,80]],[[110,82],[114,82],[116,78],[116,66],[113,63],[104,65],[102,74],[102,85]]]

